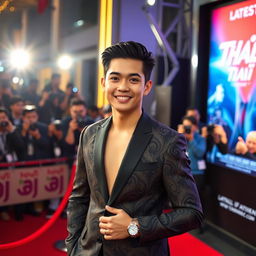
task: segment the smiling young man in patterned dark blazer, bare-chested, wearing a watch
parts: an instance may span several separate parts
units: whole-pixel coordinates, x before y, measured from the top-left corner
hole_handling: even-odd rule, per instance
[[[112,117],[81,133],[68,255],[169,255],[167,238],[202,221],[184,136],[142,111],[154,66],[143,45],[113,45],[102,60]]]

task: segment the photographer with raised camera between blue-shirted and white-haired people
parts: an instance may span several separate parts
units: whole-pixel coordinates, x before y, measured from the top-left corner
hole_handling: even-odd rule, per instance
[[[212,151],[216,145],[222,154],[228,153],[228,139],[221,125],[211,124],[202,128],[202,136],[206,138],[207,152]]]

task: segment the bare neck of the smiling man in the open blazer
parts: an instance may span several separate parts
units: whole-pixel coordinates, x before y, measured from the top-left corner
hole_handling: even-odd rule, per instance
[[[112,128],[115,130],[134,130],[140,117],[142,110],[133,113],[120,113],[118,111],[113,111],[113,123]]]

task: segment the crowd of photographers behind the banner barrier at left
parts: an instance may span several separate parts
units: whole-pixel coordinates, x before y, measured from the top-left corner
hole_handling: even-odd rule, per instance
[[[1,163],[59,157],[66,157],[71,166],[82,129],[111,115],[110,106],[87,106],[72,83],[63,91],[60,82],[60,74],[54,73],[39,95],[37,79],[31,79],[21,91],[13,90],[7,80],[0,81],[0,168]],[[17,220],[24,213],[39,215],[34,204],[14,209]],[[2,220],[10,219],[8,210],[0,207]],[[49,207],[48,215],[54,210]]]

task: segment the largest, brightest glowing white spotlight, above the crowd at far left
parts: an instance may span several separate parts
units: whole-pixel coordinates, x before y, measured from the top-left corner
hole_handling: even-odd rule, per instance
[[[11,52],[10,62],[14,68],[25,69],[30,64],[29,53],[23,49],[14,50]]]

